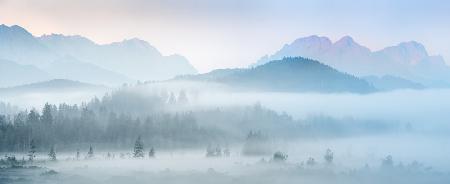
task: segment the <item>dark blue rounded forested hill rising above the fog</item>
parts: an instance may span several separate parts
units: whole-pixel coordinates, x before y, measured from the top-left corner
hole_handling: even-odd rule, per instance
[[[219,82],[240,89],[279,92],[375,91],[375,88],[363,79],[302,57],[286,57],[254,68],[221,69],[176,79]]]

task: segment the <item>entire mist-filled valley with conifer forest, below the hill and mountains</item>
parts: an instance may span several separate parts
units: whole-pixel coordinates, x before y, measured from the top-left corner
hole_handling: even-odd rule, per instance
[[[157,82],[103,94],[2,99],[12,105],[0,118],[0,183],[450,181],[447,89],[277,93]]]

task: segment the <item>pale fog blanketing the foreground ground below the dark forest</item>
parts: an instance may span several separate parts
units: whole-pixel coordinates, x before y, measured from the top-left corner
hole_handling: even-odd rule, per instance
[[[135,159],[131,155],[114,159],[107,152],[96,152],[94,159],[76,160],[74,153],[57,153],[58,161],[44,161],[39,157],[34,165],[45,169],[8,169],[0,173],[0,181],[19,183],[445,183],[448,175],[448,149],[433,154],[441,159],[442,167],[429,167],[428,162],[406,154],[405,150],[432,148],[432,142],[419,142],[416,146],[401,144],[411,137],[363,138],[360,140],[331,140],[289,143],[279,147],[288,153],[284,162],[274,162],[271,156],[245,157],[233,147],[230,157],[207,158],[203,150],[157,152],[155,158]],[[389,142],[392,140],[397,140]],[[372,144],[376,142],[386,144]],[[427,145],[431,143],[431,145]],[[334,151],[332,164],[323,159],[324,149]],[[447,144],[448,147],[448,144]],[[434,148],[433,148],[434,149]],[[387,151],[390,150],[390,151]],[[385,152],[393,156],[392,165],[383,165]],[[399,154],[402,153],[402,154]],[[308,158],[316,160],[306,164]],[[419,162],[415,162],[418,160]],[[3,176],[18,178],[7,180]],[[9,178],[8,178],[9,179]],[[15,182],[11,182],[15,183]]]

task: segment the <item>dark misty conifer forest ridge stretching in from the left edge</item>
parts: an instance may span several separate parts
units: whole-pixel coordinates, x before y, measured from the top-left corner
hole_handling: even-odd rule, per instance
[[[205,147],[246,140],[248,132],[271,138],[346,136],[397,129],[378,121],[326,117],[295,120],[260,104],[195,109],[185,91],[142,93],[124,87],[82,105],[45,104],[41,111],[0,115],[0,151],[132,149],[141,136],[147,148]],[[183,108],[188,107],[188,108]],[[188,109],[188,110],[186,110]],[[345,123],[344,123],[345,122]]]

